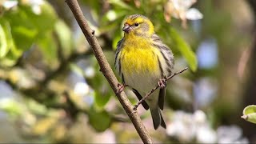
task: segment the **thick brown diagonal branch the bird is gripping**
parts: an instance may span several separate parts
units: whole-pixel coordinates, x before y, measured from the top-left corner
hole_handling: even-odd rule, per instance
[[[114,72],[112,71],[110,64],[106,61],[106,58],[102,52],[102,48],[98,44],[97,39],[94,37],[94,30],[90,29],[90,26],[88,25],[86,18],[84,18],[77,0],[66,0],[66,3],[70,7],[70,10],[73,12],[74,17],[78,22],[78,25],[82,29],[82,32],[85,35],[87,41],[89,42],[90,47],[94,51],[94,55],[98,60],[98,64],[100,66],[102,74],[104,74],[106,80],[110,83],[110,86],[114,90],[114,93],[117,95],[118,100],[122,104],[124,110],[126,110],[126,114],[128,114],[131,122],[133,122],[134,127],[138,132],[138,135],[142,139],[142,142],[152,143],[150,134],[147,132],[146,127],[142,124],[141,118],[138,116],[137,111],[133,109],[133,105],[128,100],[126,94],[124,92],[117,93],[118,80],[114,76]]]

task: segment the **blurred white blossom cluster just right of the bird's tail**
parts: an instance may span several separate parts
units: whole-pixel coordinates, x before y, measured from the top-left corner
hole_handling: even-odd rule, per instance
[[[194,139],[200,143],[217,142],[217,134],[210,128],[202,110],[194,114],[176,111],[173,120],[167,125],[166,133],[178,138],[179,142],[193,142]]]

